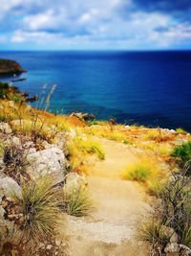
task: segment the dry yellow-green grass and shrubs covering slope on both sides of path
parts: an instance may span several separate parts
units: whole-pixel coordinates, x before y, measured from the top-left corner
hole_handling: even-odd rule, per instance
[[[52,147],[50,144],[56,144],[60,138],[64,138],[67,153],[61,149],[69,160],[70,170],[80,174],[86,172],[88,161],[93,164],[94,161],[105,159],[104,149],[96,137],[115,141],[112,144],[117,144],[121,151],[124,147],[134,151],[138,161],[126,166],[123,177],[140,182],[150,195],[156,197],[157,203],[157,209],[150,221],[142,227],[142,239],[151,244],[151,253],[157,256],[164,255],[167,244],[172,242],[191,246],[191,142],[176,146],[180,140],[190,139],[189,134],[182,128],[170,131],[138,126],[125,127],[95,120],[85,123],[74,115],[55,115],[31,107],[26,104],[25,96],[15,87],[2,82],[0,121],[8,123],[12,130],[10,135],[5,135],[3,131],[0,133],[3,134],[0,143],[0,155],[5,165],[3,172],[14,179],[22,190],[21,197],[13,194],[11,198],[2,199],[5,218],[13,223],[11,231],[13,234],[18,233],[20,242],[13,242],[11,232],[6,238],[0,232],[0,250],[3,251],[8,244],[12,246],[20,243],[19,246],[22,246],[30,241],[50,241],[57,231],[61,210],[69,215],[82,217],[91,214],[94,209],[86,186],[68,189],[64,185],[62,190],[62,184],[53,187],[50,176],[32,181],[31,176],[25,173],[28,165],[25,148],[7,143],[11,141],[11,136],[32,142],[34,151],[44,150],[43,142],[48,142],[48,147]],[[160,168],[161,163],[165,172]],[[175,168],[176,163],[180,168],[186,164],[186,171],[170,176],[167,181],[171,175],[171,165]],[[7,234],[5,226],[0,223],[0,227]],[[12,247],[9,253],[7,255],[12,255]],[[25,253],[20,252],[20,255]]]

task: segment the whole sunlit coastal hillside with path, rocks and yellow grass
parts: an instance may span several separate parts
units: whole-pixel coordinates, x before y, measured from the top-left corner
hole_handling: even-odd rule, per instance
[[[56,115],[10,94],[0,99],[1,255],[189,255],[189,132]]]

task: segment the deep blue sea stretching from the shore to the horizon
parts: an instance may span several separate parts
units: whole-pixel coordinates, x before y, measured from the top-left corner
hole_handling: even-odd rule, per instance
[[[1,52],[29,72],[15,83],[42,94],[53,84],[53,112],[191,130],[191,52]],[[48,89],[47,89],[48,91]]]

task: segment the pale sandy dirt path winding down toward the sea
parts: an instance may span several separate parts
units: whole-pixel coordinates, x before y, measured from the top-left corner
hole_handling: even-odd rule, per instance
[[[149,208],[138,184],[121,180],[120,172],[136,155],[127,146],[99,139],[105,160],[96,162],[87,177],[96,210],[91,217],[67,216],[72,256],[146,256],[138,242],[138,222]]]

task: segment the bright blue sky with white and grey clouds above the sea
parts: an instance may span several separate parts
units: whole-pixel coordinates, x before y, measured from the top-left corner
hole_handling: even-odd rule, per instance
[[[191,49],[191,0],[0,0],[6,49]]]

